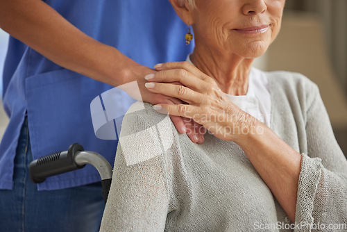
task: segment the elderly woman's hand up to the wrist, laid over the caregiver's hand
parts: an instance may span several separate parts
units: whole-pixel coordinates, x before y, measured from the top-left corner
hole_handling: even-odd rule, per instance
[[[194,119],[217,138],[226,141],[241,139],[260,122],[238,108],[217,86],[217,83],[194,65],[171,62],[155,65],[159,72],[146,76],[146,88],[157,94],[175,97],[189,104],[160,103],[154,106],[160,113]],[[173,85],[173,82],[183,85]]]

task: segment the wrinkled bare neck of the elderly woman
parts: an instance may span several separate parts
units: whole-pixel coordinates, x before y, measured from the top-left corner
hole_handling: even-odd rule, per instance
[[[214,78],[223,92],[230,95],[245,95],[253,58],[242,58],[235,54],[225,56],[212,51],[200,52],[197,48],[190,56],[192,63],[201,72]]]

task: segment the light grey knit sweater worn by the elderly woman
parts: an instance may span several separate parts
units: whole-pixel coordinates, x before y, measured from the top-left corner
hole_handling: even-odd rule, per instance
[[[347,161],[318,88],[300,74],[266,76],[271,129],[303,154],[294,224],[237,144],[210,134],[194,144],[137,102],[124,117],[101,231],[347,231]]]

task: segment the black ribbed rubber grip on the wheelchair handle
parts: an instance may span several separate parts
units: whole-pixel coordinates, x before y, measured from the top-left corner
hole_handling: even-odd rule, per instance
[[[77,151],[84,151],[81,144],[71,144],[69,150],[44,156],[29,165],[30,179],[33,183],[42,183],[46,177],[81,169],[85,165],[77,165],[74,156]]]

